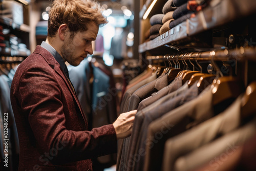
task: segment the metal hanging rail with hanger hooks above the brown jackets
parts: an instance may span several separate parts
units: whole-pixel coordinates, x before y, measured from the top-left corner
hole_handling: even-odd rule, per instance
[[[180,68],[183,70],[190,70],[196,71],[195,66],[198,71],[201,70],[201,73],[209,72],[209,74],[213,74],[215,72],[216,75],[221,74],[223,76],[223,70],[229,71],[225,73],[226,76],[236,76],[241,81],[243,81],[244,86],[248,86],[248,84],[255,80],[256,77],[254,74],[250,74],[254,72],[254,65],[256,62],[256,49],[255,47],[247,47],[247,48],[237,48],[232,50],[216,50],[216,51],[204,51],[204,52],[188,52],[188,53],[181,53],[181,54],[167,54],[164,56],[147,56],[146,59],[149,61],[149,68],[159,69],[159,67],[166,66],[165,61],[169,63],[174,63],[174,68]],[[189,61],[189,62],[186,62]],[[191,62],[193,61],[193,62]],[[194,62],[196,61],[196,62]],[[198,62],[207,62],[207,66],[209,67],[202,67]],[[181,67],[180,65],[182,65]],[[194,63],[194,64],[193,64]],[[221,68],[229,66],[228,68]],[[193,65],[193,68],[191,67]],[[190,67],[188,67],[190,66]],[[231,67],[230,67],[231,66]],[[202,68],[204,72],[202,72]]]

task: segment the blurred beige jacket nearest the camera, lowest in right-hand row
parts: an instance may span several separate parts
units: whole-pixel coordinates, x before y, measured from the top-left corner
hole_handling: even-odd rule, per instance
[[[245,143],[256,133],[256,118],[249,123],[230,132],[219,139],[206,144],[188,155],[182,156],[175,162],[174,170],[185,171],[195,169],[204,163],[216,170],[217,163],[214,163],[215,157],[232,155],[239,148],[239,145]]]

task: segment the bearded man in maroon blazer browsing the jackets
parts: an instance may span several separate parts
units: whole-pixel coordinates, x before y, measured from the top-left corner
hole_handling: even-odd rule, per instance
[[[115,153],[117,139],[131,134],[136,111],[87,131],[65,65],[77,66],[93,53],[92,41],[105,23],[90,0],[54,1],[46,42],[20,64],[11,86],[19,170],[92,170],[92,158]]]

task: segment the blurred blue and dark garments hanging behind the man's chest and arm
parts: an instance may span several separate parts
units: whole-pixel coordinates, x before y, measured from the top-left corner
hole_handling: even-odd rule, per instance
[[[88,59],[89,58],[89,59]],[[70,80],[74,86],[83,111],[86,113],[89,130],[112,124],[117,118],[117,91],[110,68],[102,57],[88,57],[79,66],[68,66]],[[116,164],[116,154],[93,159],[96,170]]]

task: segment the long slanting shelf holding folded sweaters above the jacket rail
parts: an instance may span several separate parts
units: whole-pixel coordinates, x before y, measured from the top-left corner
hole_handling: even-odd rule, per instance
[[[196,17],[167,31],[157,38],[139,45],[139,53],[172,44],[189,36],[213,29],[231,20],[246,17],[256,12],[255,0],[214,0],[200,11]]]

